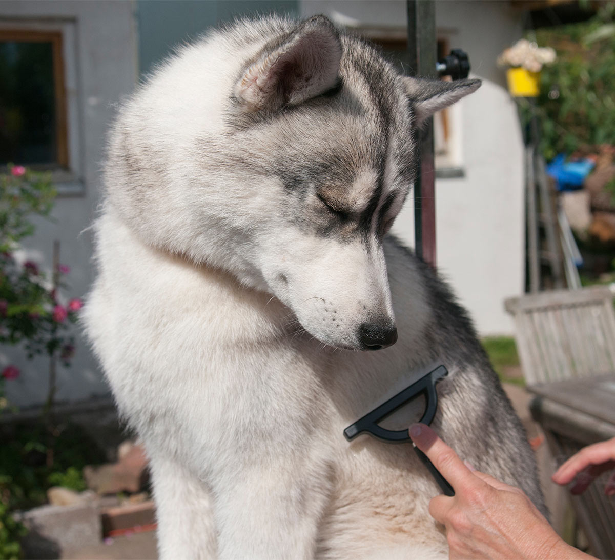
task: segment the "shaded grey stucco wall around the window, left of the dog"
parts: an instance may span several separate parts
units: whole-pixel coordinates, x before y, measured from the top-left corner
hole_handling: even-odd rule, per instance
[[[0,25],[4,28],[43,28],[68,30],[65,45],[69,98],[76,100],[71,110],[69,135],[77,140],[71,150],[73,186],[82,185],[82,194],[58,199],[54,222],[38,220],[34,238],[27,246],[28,258],[52,262],[54,239],[61,243],[61,262],[71,267],[66,276],[67,297],[82,297],[93,279],[92,236],[84,231],[95,217],[100,196],[100,167],[104,138],[114,104],[132,90],[137,80],[137,34],[133,2],[97,0],[38,1],[3,0]],[[73,59],[73,60],[71,60]],[[18,163],[18,162],[15,162]],[[83,233],[82,233],[83,232]],[[70,369],[58,367],[58,399],[81,399],[107,393],[100,369],[85,342],[77,335],[77,353]],[[24,406],[44,400],[47,391],[46,360],[26,361],[17,351],[0,354],[0,366],[13,363],[22,375],[7,382],[7,396]]]

